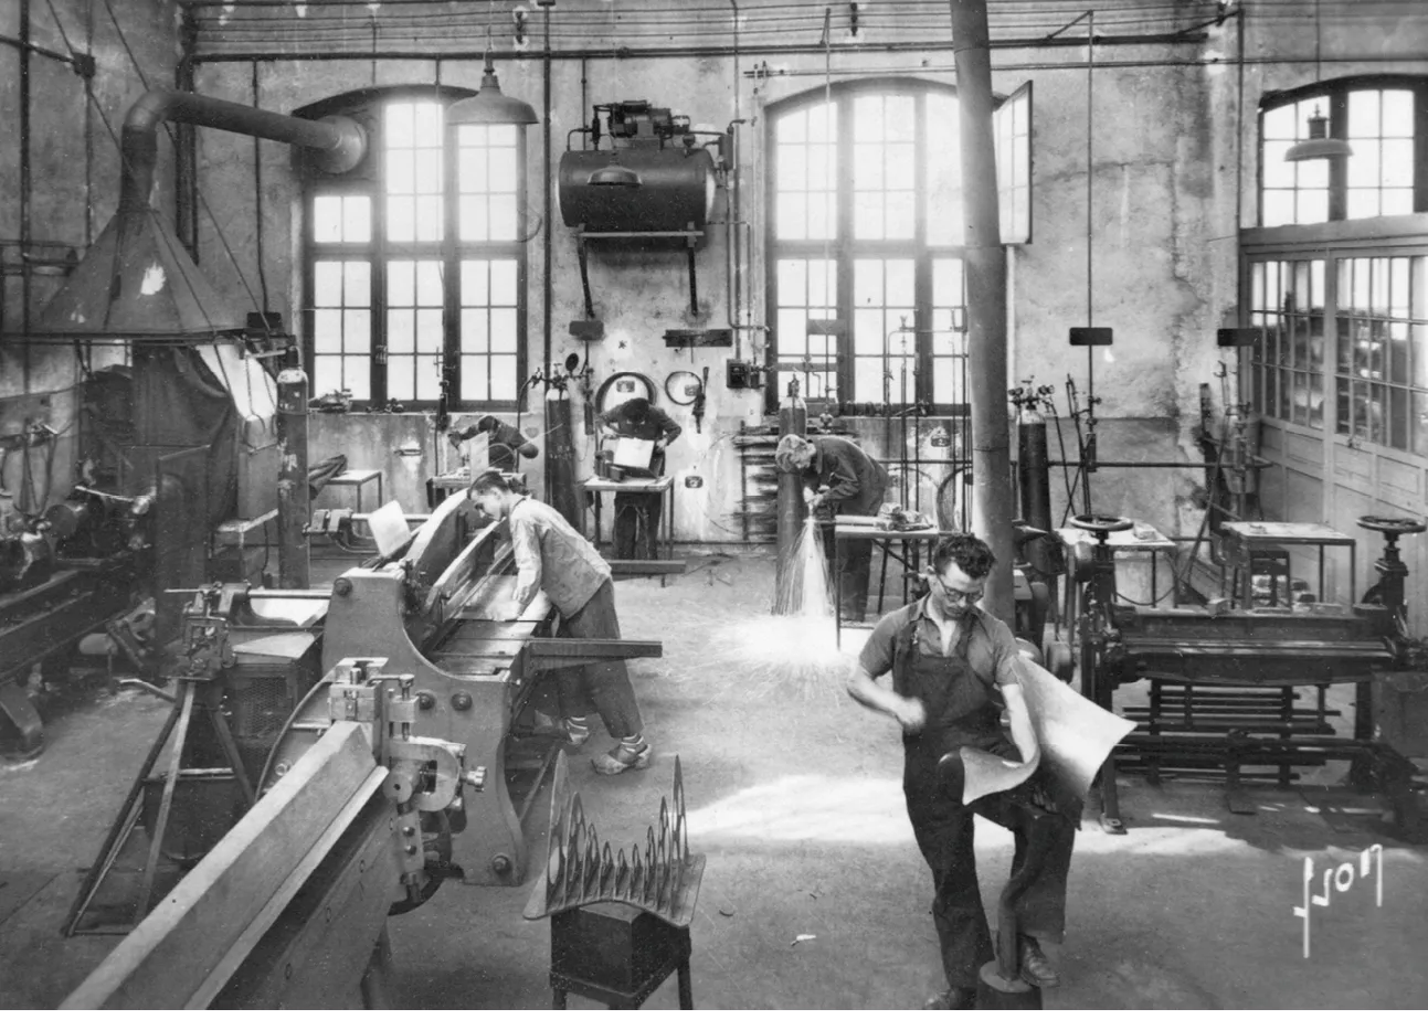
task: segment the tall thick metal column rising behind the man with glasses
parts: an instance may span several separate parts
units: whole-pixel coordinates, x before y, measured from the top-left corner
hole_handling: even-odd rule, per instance
[[[991,546],[997,566],[984,608],[1011,622],[1011,434],[1007,419],[1007,253],[1001,245],[997,165],[991,130],[991,47],[987,0],[950,0],[967,218],[967,392],[972,429],[972,531]]]

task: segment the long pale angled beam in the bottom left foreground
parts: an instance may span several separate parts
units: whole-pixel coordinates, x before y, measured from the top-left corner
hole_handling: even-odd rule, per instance
[[[188,1004],[377,763],[363,726],[333,726],[173,889],[61,1011],[177,1011]]]

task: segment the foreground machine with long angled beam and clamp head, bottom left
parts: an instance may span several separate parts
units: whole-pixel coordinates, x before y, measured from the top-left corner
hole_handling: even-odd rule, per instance
[[[388,912],[430,897],[421,823],[486,787],[418,736],[413,675],[346,661],[304,710],[311,746],[61,1011],[388,1009]]]

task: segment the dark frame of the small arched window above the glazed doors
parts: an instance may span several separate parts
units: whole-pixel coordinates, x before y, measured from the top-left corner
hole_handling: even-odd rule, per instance
[[[1428,211],[1428,76],[1407,74],[1362,74],[1344,76],[1341,78],[1325,78],[1317,83],[1307,83],[1291,90],[1275,90],[1259,97],[1257,143],[1257,213],[1255,227],[1265,230],[1302,228],[1305,225],[1324,225],[1327,223],[1284,223],[1279,225],[1265,225],[1265,138],[1264,120],[1269,111],[1275,111],[1288,104],[1302,100],[1324,97],[1325,111],[1331,137],[1347,140],[1348,137],[1348,94],[1354,90],[1409,90],[1414,94],[1414,203],[1412,213]],[[1348,217],[1348,164],[1347,158],[1328,160],[1328,223],[1337,221],[1367,221]],[[1378,188],[1384,188],[1379,184]],[[1405,215],[1369,215],[1375,218],[1395,218]]]

